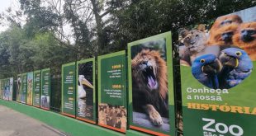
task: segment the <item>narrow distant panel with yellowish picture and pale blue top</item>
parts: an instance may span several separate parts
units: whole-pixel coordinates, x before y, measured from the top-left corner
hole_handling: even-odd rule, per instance
[[[33,104],[33,86],[34,86],[34,73],[27,73],[27,91],[26,91],[26,104]]]

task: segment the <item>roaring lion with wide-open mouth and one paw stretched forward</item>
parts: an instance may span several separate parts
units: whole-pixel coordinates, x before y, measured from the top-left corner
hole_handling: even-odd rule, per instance
[[[149,115],[156,126],[168,118],[167,66],[158,51],[143,49],[131,61],[135,111]]]

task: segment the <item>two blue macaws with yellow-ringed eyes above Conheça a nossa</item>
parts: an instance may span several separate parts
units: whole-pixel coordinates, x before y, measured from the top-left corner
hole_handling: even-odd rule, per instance
[[[237,86],[253,71],[249,55],[238,48],[223,49],[220,56],[203,54],[192,63],[192,75],[206,87],[229,89]]]

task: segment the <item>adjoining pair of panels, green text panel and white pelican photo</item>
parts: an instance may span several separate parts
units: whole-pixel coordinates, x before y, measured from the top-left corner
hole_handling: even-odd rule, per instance
[[[62,66],[63,115],[96,124],[96,96],[94,58]]]

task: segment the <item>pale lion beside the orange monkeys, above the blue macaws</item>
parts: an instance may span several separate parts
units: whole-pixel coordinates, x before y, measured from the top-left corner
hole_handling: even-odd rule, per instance
[[[194,59],[202,54],[215,54],[218,56],[220,54],[220,47],[217,45],[206,46],[207,36],[204,31],[201,30],[187,30],[183,33],[183,48],[180,51],[181,64],[186,65],[187,63],[191,66]],[[186,64],[184,64],[187,62]]]

